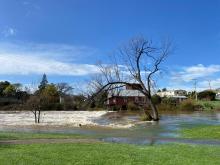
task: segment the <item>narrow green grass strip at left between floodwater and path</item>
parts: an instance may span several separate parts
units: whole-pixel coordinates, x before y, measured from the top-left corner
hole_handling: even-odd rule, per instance
[[[79,134],[0,132],[0,140],[89,138]]]

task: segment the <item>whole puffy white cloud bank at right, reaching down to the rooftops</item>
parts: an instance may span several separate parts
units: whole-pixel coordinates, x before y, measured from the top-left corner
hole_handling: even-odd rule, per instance
[[[171,72],[167,88],[192,91],[195,89],[195,79],[197,79],[198,91],[210,89],[210,86],[212,89],[220,87],[220,65],[198,64],[181,67],[178,70]]]

